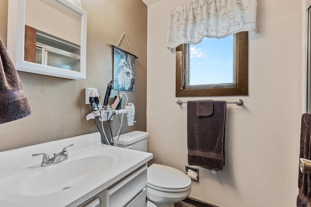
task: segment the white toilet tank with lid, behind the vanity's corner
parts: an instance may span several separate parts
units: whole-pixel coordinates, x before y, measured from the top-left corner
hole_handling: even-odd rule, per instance
[[[134,149],[142,152],[147,152],[148,150],[148,137],[149,133],[145,131],[131,131],[128,133],[121,134],[118,142],[117,138],[113,138],[113,145],[128,148],[128,149]]]

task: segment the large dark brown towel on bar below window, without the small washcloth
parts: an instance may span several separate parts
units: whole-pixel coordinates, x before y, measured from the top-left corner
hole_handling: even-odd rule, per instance
[[[225,101],[213,101],[213,113],[196,115],[196,101],[187,102],[188,163],[223,170],[225,165]]]

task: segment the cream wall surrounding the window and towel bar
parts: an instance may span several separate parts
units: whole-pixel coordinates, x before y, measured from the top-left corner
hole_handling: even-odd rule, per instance
[[[166,48],[170,8],[148,7],[147,131],[153,162],[184,170],[187,105],[175,102],[175,52]],[[227,105],[224,171],[200,168],[190,197],[219,207],[294,207],[301,119],[301,3],[257,0],[258,33],[249,32],[249,95],[184,97],[244,100]]]

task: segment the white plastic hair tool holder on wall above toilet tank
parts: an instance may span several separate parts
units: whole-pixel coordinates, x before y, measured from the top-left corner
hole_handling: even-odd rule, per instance
[[[109,121],[113,120],[115,114],[122,114],[126,115],[127,125],[133,126],[136,121],[134,121],[135,116],[135,107],[133,103],[127,103],[124,109],[120,110],[113,110],[111,106],[108,105],[105,110],[101,110],[101,116],[99,116],[100,121]]]

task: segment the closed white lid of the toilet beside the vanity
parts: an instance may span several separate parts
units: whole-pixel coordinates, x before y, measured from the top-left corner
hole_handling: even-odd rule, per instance
[[[177,190],[188,188],[191,185],[190,177],[173,167],[152,164],[147,169],[148,184],[152,186]]]

